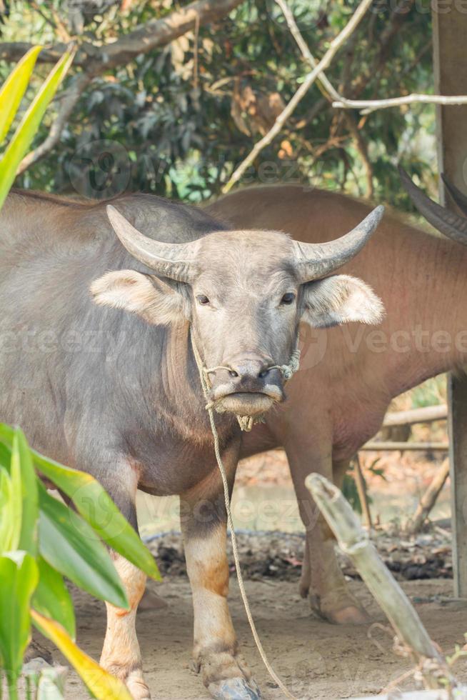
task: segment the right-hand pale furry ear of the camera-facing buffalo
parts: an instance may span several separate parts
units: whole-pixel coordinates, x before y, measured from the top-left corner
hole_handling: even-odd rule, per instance
[[[357,277],[335,275],[304,285],[301,321],[313,328],[329,328],[348,321],[378,324],[383,316],[383,302]]]

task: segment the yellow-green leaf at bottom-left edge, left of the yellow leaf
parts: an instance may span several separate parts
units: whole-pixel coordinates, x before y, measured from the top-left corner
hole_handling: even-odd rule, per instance
[[[27,552],[0,556],[0,661],[9,687],[16,687],[29,643],[29,603],[38,578],[36,561]]]

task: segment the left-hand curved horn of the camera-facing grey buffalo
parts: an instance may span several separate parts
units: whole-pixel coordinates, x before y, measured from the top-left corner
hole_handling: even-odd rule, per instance
[[[156,273],[179,282],[189,282],[196,272],[194,259],[199,241],[171,244],[154,241],[141,234],[114,206],[106,207],[107,216],[121,243],[132,256]]]

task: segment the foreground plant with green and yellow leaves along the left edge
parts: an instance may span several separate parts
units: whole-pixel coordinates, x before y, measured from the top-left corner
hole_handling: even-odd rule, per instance
[[[29,84],[41,46],[19,61],[0,89],[0,146]],[[0,159],[0,208],[47,106],[73,60],[67,51],[52,69]],[[45,477],[76,511],[51,496]],[[126,593],[104,542],[154,579],[156,563],[102,486],[89,474],[46,459],[27,444],[21,429],[0,424],[0,676],[11,700],[31,624],[56,644],[100,700],[131,700],[124,684],[101,669],[74,643],[74,609],[64,576],[84,591],[127,608]],[[1,696],[0,677],[0,696]],[[29,682],[28,682],[29,687]],[[47,698],[62,697],[59,684]],[[29,690],[27,691],[30,696]]]

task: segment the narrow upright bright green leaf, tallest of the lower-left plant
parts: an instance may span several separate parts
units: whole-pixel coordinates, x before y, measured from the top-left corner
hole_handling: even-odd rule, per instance
[[[18,549],[37,552],[37,519],[39,505],[37,499],[37,476],[32,464],[31,452],[24,432],[16,428],[11,448],[11,471],[19,470],[21,481],[21,534]],[[15,548],[16,549],[16,548]]]

